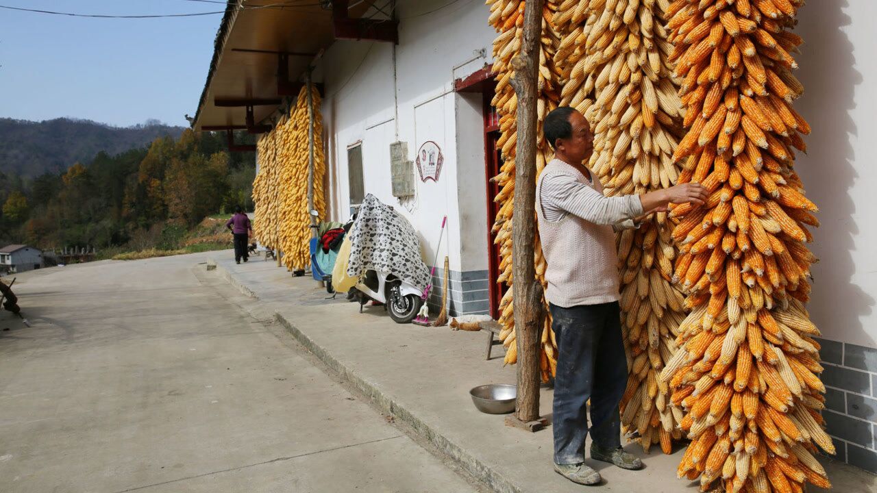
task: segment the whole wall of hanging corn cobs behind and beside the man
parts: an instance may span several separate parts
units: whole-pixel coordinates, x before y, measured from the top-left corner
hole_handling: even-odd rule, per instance
[[[674,207],[617,241],[631,368],[625,425],[640,433],[644,447],[660,442],[668,450],[674,432],[693,439],[679,473],[700,478],[703,489],[798,491],[804,482],[828,484],[813,457],[814,444],[834,452],[819,413],[824,385],[812,339],[819,332],[804,308],[816,259],[803,242],[811,239],[807,227],[818,222],[793,169],[794,149],[804,150],[801,134],[809,133],[792,106],[802,93],[790,54],[801,43],[790,32],[800,4],[546,4],[554,15],[543,25],[552,36],[543,41],[560,42],[553,64],[540,68],[540,89],[545,74],[556,75],[557,102],[576,107],[594,125],[590,166],[609,193],[677,181],[702,182],[710,192],[705,206]],[[510,20],[516,12],[509,3],[492,3],[491,11],[500,32],[495,103],[503,104],[510,90],[503,61],[516,53],[510,31],[517,18]],[[673,95],[676,84],[684,109]],[[514,106],[497,106],[513,122]],[[677,143],[680,118],[685,131]],[[514,130],[509,121],[503,136],[506,130]],[[506,156],[513,152],[509,142]],[[541,167],[550,150],[541,141],[539,150]],[[513,163],[499,177],[503,192],[496,200],[510,210],[508,169]],[[497,224],[502,232],[503,222]],[[503,259],[510,258],[510,233],[498,242]],[[539,276],[540,262],[537,248]],[[510,295],[503,307],[506,361],[514,362]],[[690,311],[684,320],[683,311]]]

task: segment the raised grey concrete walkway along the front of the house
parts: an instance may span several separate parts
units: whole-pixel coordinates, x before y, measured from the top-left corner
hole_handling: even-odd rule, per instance
[[[312,279],[292,278],[273,262],[235,265],[227,255],[215,258],[219,275],[255,297],[249,306],[275,312],[304,347],[496,491],[698,490],[698,482],[676,479],[683,447],[676,447],[673,455],[661,454],[658,447],[643,454],[641,447],[628,444],[625,448],[645,463],[642,471],[591,461],[605,480],[598,487],[585,488],[555,474],[550,428],[537,433],[512,429],[504,425],[503,416],[476,411],[467,395],[475,385],[515,382],[515,368],[503,367],[501,348],[494,359],[484,361],[485,332],[397,325],[380,308],[367,307],[360,314],[356,304],[325,300],[325,291]],[[549,418],[552,398],[550,389],[542,390],[541,412]],[[877,489],[877,476],[829,459],[824,463],[838,491]]]

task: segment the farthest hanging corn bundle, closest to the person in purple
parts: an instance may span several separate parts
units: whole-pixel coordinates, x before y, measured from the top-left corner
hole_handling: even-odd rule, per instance
[[[277,130],[264,133],[256,143],[259,159],[259,174],[253,180],[253,233],[265,247],[276,248],[278,245],[277,214],[279,182],[277,179]]]

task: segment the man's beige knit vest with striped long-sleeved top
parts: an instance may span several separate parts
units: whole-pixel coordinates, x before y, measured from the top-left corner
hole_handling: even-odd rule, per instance
[[[553,160],[537,182],[539,239],[548,263],[545,298],[564,308],[619,299],[612,225],[642,214],[638,196],[603,196],[600,180],[591,176],[593,184],[576,168]]]

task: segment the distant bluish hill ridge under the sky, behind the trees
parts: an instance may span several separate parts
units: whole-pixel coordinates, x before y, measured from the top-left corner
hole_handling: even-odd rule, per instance
[[[113,155],[146,146],[158,137],[176,139],[183,129],[157,121],[123,128],[71,118],[41,122],[0,118],[0,172],[24,177],[57,173],[101,151]]]

